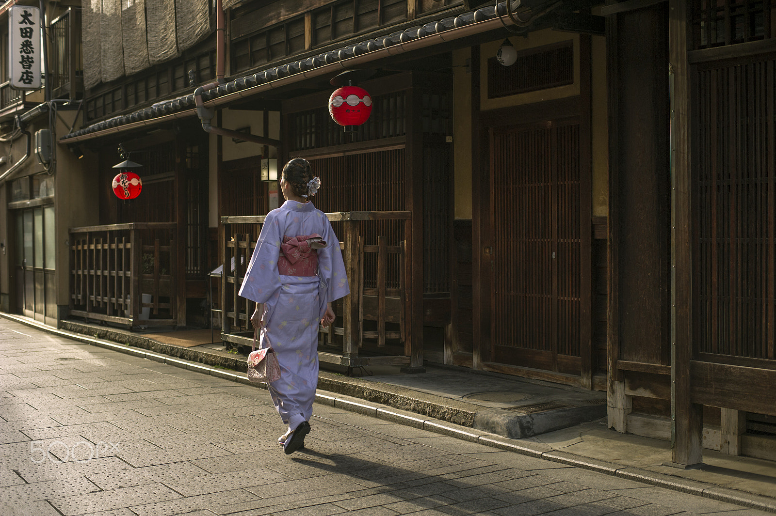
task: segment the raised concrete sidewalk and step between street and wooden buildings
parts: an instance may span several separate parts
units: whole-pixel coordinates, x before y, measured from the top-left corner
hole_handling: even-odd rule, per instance
[[[76,333],[16,315],[2,317],[95,346],[248,383],[244,373],[236,372],[244,371],[244,357],[212,349],[218,346],[171,346],[102,326],[68,323],[68,329]],[[776,512],[776,463],[704,450],[704,464],[697,469],[664,466],[670,463],[668,442],[622,435],[606,428],[604,417],[596,418],[605,414],[603,393],[469,370],[378,373],[349,378],[322,371],[317,402],[497,449]],[[597,413],[601,408],[603,414]]]

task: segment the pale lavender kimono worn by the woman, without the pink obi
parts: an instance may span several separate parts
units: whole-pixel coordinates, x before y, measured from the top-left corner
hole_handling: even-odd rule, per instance
[[[317,233],[326,246],[317,249],[318,276],[278,272],[284,237]],[[240,289],[243,298],[264,303],[260,348],[272,346],[280,380],[269,392],[283,422],[296,428],[313,413],[318,384],[318,324],[327,303],[350,293],[339,239],[324,212],[311,202],[286,201],[267,215]]]

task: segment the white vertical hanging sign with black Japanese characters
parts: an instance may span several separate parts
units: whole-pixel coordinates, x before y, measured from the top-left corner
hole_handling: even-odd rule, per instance
[[[40,88],[40,9],[15,5],[9,9],[9,64],[11,88]]]

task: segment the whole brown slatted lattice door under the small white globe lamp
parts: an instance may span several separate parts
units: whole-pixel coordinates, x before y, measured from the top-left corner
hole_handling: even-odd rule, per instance
[[[494,129],[495,362],[580,373],[580,126]]]

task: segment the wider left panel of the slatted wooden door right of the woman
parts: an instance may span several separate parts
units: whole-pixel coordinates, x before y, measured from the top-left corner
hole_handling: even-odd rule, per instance
[[[495,136],[492,331],[497,346],[553,349],[551,152],[551,129]]]

